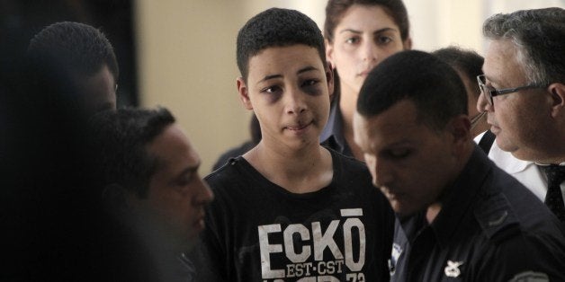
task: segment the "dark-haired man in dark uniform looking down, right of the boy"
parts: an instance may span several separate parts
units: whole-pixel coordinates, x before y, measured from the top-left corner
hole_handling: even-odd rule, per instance
[[[354,137],[399,217],[392,280],[565,280],[565,230],[470,127],[461,79],[431,54],[400,52],[365,80]]]

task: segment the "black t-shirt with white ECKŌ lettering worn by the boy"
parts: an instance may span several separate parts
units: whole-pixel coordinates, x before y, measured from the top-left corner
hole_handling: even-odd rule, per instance
[[[330,152],[333,180],[316,192],[291,193],[243,157],[206,177],[215,200],[192,253],[197,280],[388,280],[389,202],[363,163]]]

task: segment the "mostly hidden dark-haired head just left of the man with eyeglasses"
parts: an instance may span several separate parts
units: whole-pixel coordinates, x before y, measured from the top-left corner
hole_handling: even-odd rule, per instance
[[[477,100],[480,95],[477,76],[482,75],[484,58],[477,52],[455,46],[440,48],[432,52],[449,66],[452,66],[461,77],[467,92],[467,109],[471,118],[471,136],[476,137],[489,128],[486,116],[477,110]]]

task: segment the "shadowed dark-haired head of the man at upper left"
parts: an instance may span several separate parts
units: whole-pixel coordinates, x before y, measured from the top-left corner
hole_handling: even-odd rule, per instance
[[[76,107],[87,115],[116,109],[118,63],[101,31],[79,22],[53,23],[31,39],[28,55],[41,72],[70,84]]]

